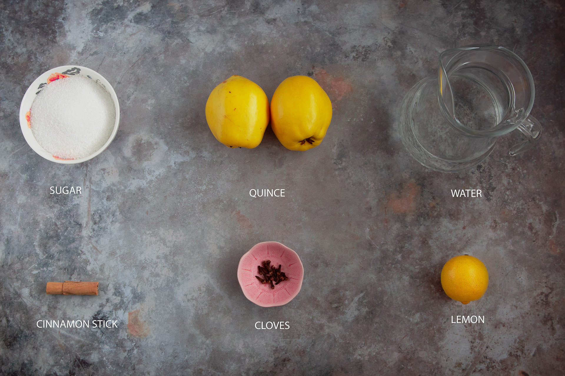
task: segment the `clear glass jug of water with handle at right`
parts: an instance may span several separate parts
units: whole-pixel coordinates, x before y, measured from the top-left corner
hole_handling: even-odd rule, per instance
[[[479,164],[499,136],[517,128],[526,139],[510,148],[515,156],[541,137],[533,100],[532,74],[514,52],[489,45],[447,50],[438,77],[416,83],[402,101],[402,143],[422,165],[457,172]]]

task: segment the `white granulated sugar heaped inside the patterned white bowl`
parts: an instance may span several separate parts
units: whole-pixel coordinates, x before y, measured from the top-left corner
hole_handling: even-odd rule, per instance
[[[88,157],[110,138],[116,108],[110,94],[93,79],[60,78],[33,100],[33,136],[49,153],[63,159]]]

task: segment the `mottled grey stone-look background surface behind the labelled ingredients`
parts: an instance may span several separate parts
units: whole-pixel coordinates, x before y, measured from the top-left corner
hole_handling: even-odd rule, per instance
[[[558,1],[3,1],[0,3],[0,373],[3,375],[560,375],[565,373],[565,5]],[[536,83],[538,147],[501,139],[476,169],[441,174],[406,153],[402,96],[441,51],[494,43]],[[118,135],[80,165],[25,143],[21,98],[47,69],[103,74]],[[232,74],[271,97],[307,74],[334,104],[323,143],[255,149],[208,130],[212,88]],[[69,104],[72,105],[72,104]],[[80,185],[54,196],[52,185]],[[284,188],[285,198],[251,198]],[[484,198],[453,198],[479,188]],[[236,268],[260,241],[296,250],[289,304],[245,299]],[[439,282],[479,257],[483,298]],[[98,297],[47,281],[100,281]],[[485,324],[451,324],[484,315]],[[41,319],[119,329],[38,329]],[[290,321],[256,330],[256,321]]]

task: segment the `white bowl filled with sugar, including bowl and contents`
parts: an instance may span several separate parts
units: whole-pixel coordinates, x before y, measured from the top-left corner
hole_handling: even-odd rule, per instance
[[[56,163],[81,163],[102,153],[114,140],[119,122],[118,96],[110,83],[78,65],[41,74],[20,105],[25,141]]]

